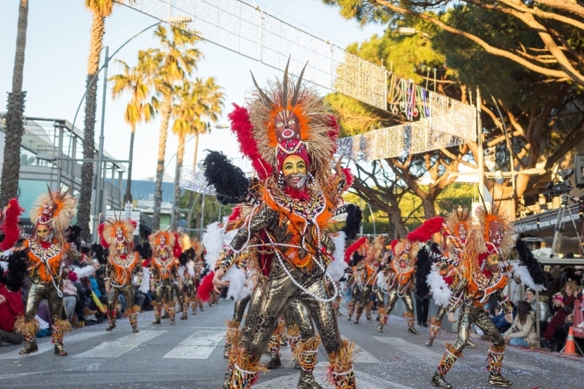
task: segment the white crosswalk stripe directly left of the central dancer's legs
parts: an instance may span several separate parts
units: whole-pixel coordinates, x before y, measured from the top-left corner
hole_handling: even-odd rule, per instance
[[[225,330],[195,331],[163,358],[207,359],[224,338]]]

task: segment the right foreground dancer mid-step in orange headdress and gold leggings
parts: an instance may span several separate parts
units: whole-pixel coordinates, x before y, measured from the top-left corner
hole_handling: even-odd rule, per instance
[[[431,384],[438,388],[451,388],[445,375],[456,359],[462,356],[473,323],[493,343],[487,355],[488,383],[502,388],[512,385],[511,381],[501,375],[504,339],[484,311],[484,304],[491,295],[497,297],[505,313],[512,311],[503,293],[507,285],[505,272],[508,270],[503,265],[503,260],[513,248],[512,225],[499,213],[495,203],[491,212],[484,206],[478,208],[476,216],[477,221],[471,227],[462,260],[457,265],[457,273],[451,285],[452,297],[448,311],[453,312],[460,307],[458,338],[455,344],[447,344],[447,350],[431,379]]]

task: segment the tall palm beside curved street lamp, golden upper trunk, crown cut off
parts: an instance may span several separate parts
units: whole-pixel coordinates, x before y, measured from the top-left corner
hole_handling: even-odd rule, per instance
[[[96,110],[98,98],[98,79],[93,80],[100,67],[100,54],[103,48],[105,33],[105,18],[111,14],[113,0],[85,0],[85,7],[93,14],[91,23],[91,38],[89,40],[89,58],[87,60],[87,78],[85,87],[85,122],[83,131],[83,158],[93,159],[93,151],[96,149],[94,140],[96,134]],[[91,83],[93,80],[93,83]],[[82,228],[81,236],[89,240],[89,214],[91,212],[91,190],[93,188],[93,163],[85,162],[81,166],[81,190],[79,194],[79,207],[77,223]]]

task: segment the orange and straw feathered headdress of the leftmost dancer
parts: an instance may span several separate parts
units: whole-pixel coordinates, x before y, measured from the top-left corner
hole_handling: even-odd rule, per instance
[[[65,229],[76,214],[77,199],[71,189],[45,192],[33,204],[30,219],[35,225],[44,224],[60,241],[65,241]]]

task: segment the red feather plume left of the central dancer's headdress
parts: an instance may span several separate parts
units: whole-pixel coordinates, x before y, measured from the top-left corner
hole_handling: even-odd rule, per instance
[[[227,118],[231,120],[231,130],[237,136],[239,149],[243,155],[251,159],[251,166],[254,166],[260,179],[266,179],[272,174],[273,170],[270,164],[260,155],[258,144],[251,135],[253,126],[251,125],[249,112],[244,107],[239,107],[237,104],[233,105],[235,109],[227,115]]]

